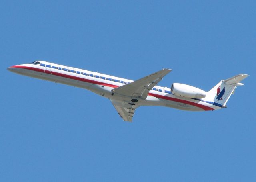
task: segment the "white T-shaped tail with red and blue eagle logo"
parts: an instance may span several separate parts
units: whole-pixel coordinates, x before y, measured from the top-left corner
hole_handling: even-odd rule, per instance
[[[234,94],[237,86],[244,85],[240,82],[248,76],[248,74],[238,74],[232,78],[221,80],[216,86],[207,92],[205,99],[220,104],[222,108],[226,108],[226,103],[228,102],[231,94]]]

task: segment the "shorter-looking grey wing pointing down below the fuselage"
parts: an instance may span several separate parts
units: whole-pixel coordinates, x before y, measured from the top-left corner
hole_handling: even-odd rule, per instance
[[[120,102],[112,99],[111,102],[113,106],[116,108],[120,117],[124,119],[124,121],[132,122],[132,117],[134,116],[135,109],[138,108],[137,106],[132,106],[130,104],[125,104],[125,102]]]

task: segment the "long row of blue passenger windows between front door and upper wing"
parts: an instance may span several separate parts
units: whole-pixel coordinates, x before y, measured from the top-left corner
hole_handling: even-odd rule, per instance
[[[80,71],[75,71],[75,70],[70,70],[70,69],[66,69],[66,68],[61,68],[61,67],[55,67],[55,66],[51,66],[51,65],[45,65],[45,64],[40,64],[40,66],[43,66],[43,67],[51,67],[53,69],[57,69],[57,70],[63,70],[63,71],[67,71],[67,72],[73,72],[73,73],[76,73],[76,74],[82,74],[82,75],[85,75],[85,76],[91,76],[91,77],[94,77],[94,78],[100,78],[100,79],[103,79],[103,80],[108,80],[108,81],[112,81],[112,82],[118,82],[118,83],[122,83],[122,84],[129,84],[130,82],[124,82],[122,80],[116,80],[116,79],[113,79],[113,78],[107,78],[107,77],[104,77],[104,76],[98,76],[98,75],[95,75],[95,74],[89,74],[89,73],[84,73],[84,72],[80,72]]]

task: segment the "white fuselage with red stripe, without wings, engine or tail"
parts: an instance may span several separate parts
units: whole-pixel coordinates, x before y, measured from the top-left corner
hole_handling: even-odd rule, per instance
[[[40,63],[15,65],[9,67],[8,70],[25,76],[84,88],[109,99],[131,102],[131,97],[113,94],[111,90],[129,84],[133,82],[133,80],[46,61],[38,62]],[[139,99],[136,104],[137,106],[167,106],[190,111],[221,109],[221,107],[213,101],[175,96],[171,93],[170,88],[161,86],[154,86],[154,88],[150,90],[146,100]]]

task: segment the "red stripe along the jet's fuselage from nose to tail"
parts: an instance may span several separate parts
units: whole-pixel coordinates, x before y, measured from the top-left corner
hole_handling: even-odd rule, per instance
[[[39,69],[39,68],[27,67],[27,66],[16,65],[16,66],[12,66],[11,68],[22,68],[22,69],[27,69],[27,70],[32,70],[32,71],[46,73],[45,70],[42,70],[42,69]],[[113,87],[113,88],[119,87],[117,85],[112,85],[112,84],[108,84],[108,83],[98,82],[98,81],[89,80],[89,79],[86,79],[86,78],[80,78],[80,77],[71,76],[71,75],[67,75],[67,74],[63,74],[63,73],[58,73],[58,72],[53,72],[53,71],[51,71],[51,72],[47,71],[46,74],[52,74],[52,75],[56,75],[56,76],[60,76],[60,77],[64,77],[64,78],[70,78],[72,80],[79,80],[79,81],[82,81],[82,82],[88,82],[88,83],[92,83],[92,84],[109,86],[109,87]],[[183,103],[183,104],[189,104],[189,105],[192,105],[192,106],[196,106],[198,108],[202,108],[205,111],[214,110],[211,107],[204,106],[202,104],[198,104],[198,103],[187,101],[187,100],[182,100],[182,99],[178,99],[178,98],[173,98],[173,97],[168,97],[168,96],[163,96],[163,95],[153,94],[153,93],[148,93],[148,95],[156,97],[156,98],[161,98],[161,99],[165,99],[165,100],[174,101],[174,102],[180,102],[180,103]]]

